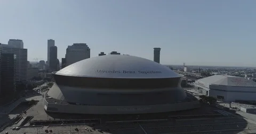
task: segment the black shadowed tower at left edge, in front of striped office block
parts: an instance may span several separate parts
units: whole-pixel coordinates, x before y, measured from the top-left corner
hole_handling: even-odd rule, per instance
[[[12,94],[16,90],[15,86],[15,70],[13,53],[1,53],[1,88],[2,95]]]

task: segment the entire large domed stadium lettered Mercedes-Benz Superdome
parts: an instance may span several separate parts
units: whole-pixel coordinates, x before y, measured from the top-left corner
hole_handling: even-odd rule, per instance
[[[140,57],[93,57],[53,77],[55,84],[44,95],[46,112],[137,114],[199,107],[198,100],[181,88],[181,75]]]

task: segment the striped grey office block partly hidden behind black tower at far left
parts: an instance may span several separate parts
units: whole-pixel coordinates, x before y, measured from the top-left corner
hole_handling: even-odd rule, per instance
[[[27,81],[27,60],[28,50],[23,48],[21,44],[1,44],[2,53],[13,53],[15,82]]]

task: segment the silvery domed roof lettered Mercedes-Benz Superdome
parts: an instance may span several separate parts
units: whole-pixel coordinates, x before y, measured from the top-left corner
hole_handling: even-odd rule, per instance
[[[71,64],[55,75],[100,78],[174,78],[181,75],[157,62],[127,55],[106,55]]]

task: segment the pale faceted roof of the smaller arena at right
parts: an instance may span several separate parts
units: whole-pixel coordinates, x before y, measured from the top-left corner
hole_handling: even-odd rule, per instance
[[[198,84],[203,85],[225,85],[225,86],[247,86],[255,87],[256,83],[249,79],[229,76],[229,75],[213,75],[210,77],[202,78],[197,80]]]

